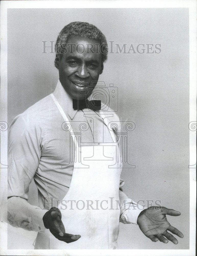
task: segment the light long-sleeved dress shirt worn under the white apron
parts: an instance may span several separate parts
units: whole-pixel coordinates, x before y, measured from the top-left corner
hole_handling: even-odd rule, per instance
[[[72,98],[59,80],[53,94],[67,114],[73,131],[80,132],[82,143],[113,142],[99,111],[73,110]],[[108,119],[119,121],[112,111]],[[57,207],[57,202],[66,195],[74,166],[74,147],[70,133],[50,95],[16,116],[11,123],[8,164],[9,223],[14,227],[44,232],[42,217],[52,206]],[[32,179],[38,188],[39,206],[27,202]],[[120,180],[120,205],[125,201],[120,221],[136,224],[143,209],[139,209],[121,191],[123,183]]]

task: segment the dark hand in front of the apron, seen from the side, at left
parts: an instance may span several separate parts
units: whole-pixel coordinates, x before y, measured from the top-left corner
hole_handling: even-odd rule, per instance
[[[49,229],[53,236],[60,241],[72,243],[81,237],[80,235],[65,233],[64,224],[61,220],[61,212],[56,207],[52,207],[49,211],[47,211],[42,219],[45,228]]]

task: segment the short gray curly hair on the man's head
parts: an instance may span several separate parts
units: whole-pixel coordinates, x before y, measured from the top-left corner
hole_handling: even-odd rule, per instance
[[[108,46],[106,37],[96,26],[89,24],[88,22],[79,21],[69,23],[60,31],[55,44],[56,58],[61,58],[61,54],[63,54],[62,46],[66,44],[68,37],[72,35],[99,40],[102,62],[107,60]]]

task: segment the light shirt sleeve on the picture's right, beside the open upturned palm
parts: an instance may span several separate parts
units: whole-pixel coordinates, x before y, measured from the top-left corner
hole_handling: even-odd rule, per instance
[[[144,206],[137,204],[122,191],[124,180],[120,179],[120,222],[124,224],[137,224],[137,217],[140,212],[146,209]]]

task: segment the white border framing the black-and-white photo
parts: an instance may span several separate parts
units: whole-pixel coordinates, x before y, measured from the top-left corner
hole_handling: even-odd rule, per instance
[[[47,0],[47,1],[1,1],[1,88],[0,120],[7,122],[7,9],[8,8],[189,8],[190,40],[190,122],[196,122],[196,1],[87,1],[87,0]],[[75,6],[75,7],[73,7]],[[77,6],[77,7],[76,7]],[[1,125],[1,124],[0,124]],[[190,249],[189,250],[8,250],[7,249],[7,168],[1,167],[1,255],[195,255],[196,237],[196,130],[190,134]],[[1,132],[1,163],[7,163],[7,130]]]

